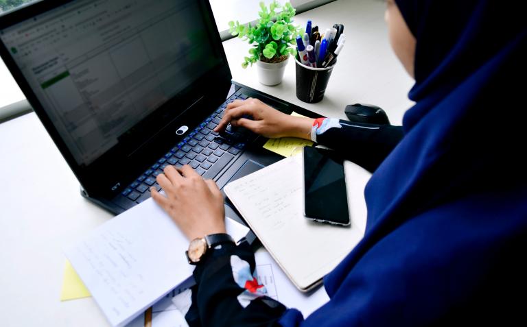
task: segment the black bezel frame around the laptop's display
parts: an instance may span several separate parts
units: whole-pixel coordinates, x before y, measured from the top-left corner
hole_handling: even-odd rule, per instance
[[[0,15],[0,29],[32,19],[38,14],[43,14],[72,1],[75,0],[43,0],[26,5],[19,10],[4,13]],[[137,178],[141,171],[148,169],[154,163],[152,161],[162,156],[169,147],[176,145],[202,119],[211,114],[215,109],[214,106],[219,106],[225,100],[231,86],[232,75],[220,34],[215,25],[209,1],[194,1],[197,1],[202,8],[212,47],[217,50],[217,55],[221,58],[220,63],[187,87],[184,94],[172,97],[135,126],[130,138],[137,142],[136,149],[130,149],[129,144],[125,147],[119,143],[89,165],[79,165],[75,160],[30,84],[21,73],[19,66],[14,62],[3,40],[0,40],[0,56],[5,65],[19,84],[27,101],[32,105],[34,112],[42,121],[83,189],[90,196],[111,198],[119,194],[121,189],[124,189],[129,182]],[[171,110],[174,107],[179,108],[179,110]],[[175,131],[181,125],[187,125],[189,132],[178,136]]]

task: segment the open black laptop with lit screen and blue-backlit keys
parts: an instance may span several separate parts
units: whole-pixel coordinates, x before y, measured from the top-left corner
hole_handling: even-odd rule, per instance
[[[114,214],[160,189],[166,165],[222,188],[280,160],[248,130],[213,132],[235,99],[316,117],[232,81],[207,0],[38,1],[0,16],[0,43],[82,196]]]

